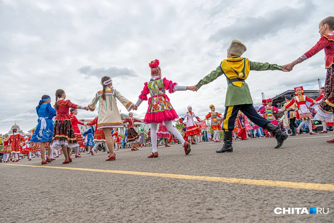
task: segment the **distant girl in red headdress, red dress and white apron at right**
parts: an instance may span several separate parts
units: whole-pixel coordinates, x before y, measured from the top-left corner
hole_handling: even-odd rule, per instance
[[[300,125],[297,128],[297,134],[299,135],[300,132],[300,128],[305,124],[308,123],[309,129],[310,129],[310,135],[316,135],[317,133],[313,132],[312,129],[312,122],[311,119],[313,119],[312,113],[310,111],[310,109],[308,108],[308,106],[306,105],[306,101],[308,102],[314,102],[315,104],[318,104],[317,101],[309,98],[308,96],[304,95],[304,90],[303,87],[298,87],[298,88],[294,88],[295,89],[295,95],[296,97],[294,97],[290,103],[288,103],[285,108],[283,108],[283,110],[286,110],[286,107],[290,107],[291,105],[293,105],[294,103],[297,104],[297,119],[298,120],[302,120],[302,122],[300,123]]]

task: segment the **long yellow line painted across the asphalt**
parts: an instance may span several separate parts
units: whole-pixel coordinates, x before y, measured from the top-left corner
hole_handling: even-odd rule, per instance
[[[211,181],[211,182],[221,182],[221,183],[234,183],[234,184],[248,184],[248,185],[259,185],[259,186],[270,186],[270,187],[285,187],[285,188],[308,189],[308,190],[334,191],[334,184],[322,184],[322,183],[302,183],[302,182],[273,181],[273,180],[252,180],[252,179],[228,178],[228,177],[206,177],[206,176],[193,176],[193,175],[181,175],[181,174],[99,170],[99,169],[86,169],[86,168],[69,168],[65,166],[62,167],[62,166],[45,166],[45,165],[21,165],[21,164],[8,164],[8,163],[0,163],[0,164],[9,165],[9,166],[10,165],[28,166],[32,168],[50,168],[50,169],[62,169],[62,170],[73,170],[73,171],[90,171],[90,172],[126,174],[126,175],[147,176],[147,177],[165,177],[165,178],[183,179],[183,180],[201,180],[201,181]]]

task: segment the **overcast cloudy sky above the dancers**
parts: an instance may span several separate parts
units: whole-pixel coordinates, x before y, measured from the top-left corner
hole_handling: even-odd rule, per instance
[[[219,66],[233,39],[247,46],[244,57],[284,65],[320,38],[319,22],[332,16],[331,1],[14,1],[0,0],[0,133],[16,123],[24,132],[37,125],[41,96],[87,106],[113,78],[115,88],[135,102],[150,79],[151,60],[162,76],[192,86]],[[318,89],[324,83],[324,52],[290,73],[253,71],[247,83],[254,103],[293,87]],[[176,92],[179,115],[187,105],[201,118],[214,104],[224,111],[227,83],[219,77],[198,92]],[[119,103],[119,109],[126,109]],[[147,103],[134,115],[144,118]],[[78,119],[97,112],[80,110]]]

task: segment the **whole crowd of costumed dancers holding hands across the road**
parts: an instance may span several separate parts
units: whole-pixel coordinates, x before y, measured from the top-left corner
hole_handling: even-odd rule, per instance
[[[62,89],[55,92],[55,104],[50,104],[51,97],[43,95],[36,107],[38,114],[38,125],[34,133],[25,138],[15,129],[13,134],[5,135],[1,153],[4,161],[8,162],[11,154],[12,162],[19,160],[19,154],[29,154],[29,159],[33,154],[40,155],[42,164],[47,164],[59,157],[60,152],[64,156],[64,164],[72,162],[71,155],[80,157],[80,148],[87,148],[88,152],[94,155],[96,149],[102,146],[108,151],[107,161],[115,160],[119,145],[128,145],[132,151],[138,150],[141,146],[150,143],[152,152],[148,158],[158,157],[157,145],[164,141],[168,146],[168,139],[175,138],[175,142],[182,145],[185,155],[191,152],[191,145],[197,144],[198,139],[203,134],[201,125],[205,120],[211,120],[211,129],[214,134],[213,142],[219,141],[219,131],[223,131],[224,145],[216,150],[217,153],[233,152],[232,142],[236,136],[241,140],[246,140],[247,136],[267,136],[274,137],[278,149],[283,146],[284,141],[291,135],[301,133],[305,124],[309,127],[311,135],[313,131],[312,119],[318,120],[323,125],[323,131],[327,132],[327,126],[334,125],[334,17],[329,16],[319,23],[319,33],[321,35],[318,43],[308,52],[304,53],[297,60],[290,64],[280,66],[277,64],[259,63],[242,58],[242,54],[247,50],[246,46],[238,40],[233,40],[227,49],[227,59],[201,79],[196,86],[179,86],[176,82],[162,78],[159,60],[149,63],[151,77],[144,83],[144,88],[135,103],[121,95],[113,86],[113,80],[102,77],[100,84],[102,90],[98,91],[92,102],[87,106],[80,106],[66,99],[66,93]],[[311,58],[320,50],[325,51],[326,78],[325,87],[321,95],[313,100],[304,95],[303,88],[295,88],[295,96],[286,96],[286,103],[282,108],[272,106],[272,99],[263,101],[263,106],[256,110],[253,106],[252,96],[245,80],[250,70],[281,70],[292,71],[293,67]],[[225,113],[220,114],[215,110],[214,105],[210,105],[210,112],[202,120],[192,110],[187,107],[187,112],[179,118],[173,108],[166,91],[170,94],[176,91],[198,91],[204,85],[214,81],[223,75],[228,80],[228,88],[225,99]],[[150,95],[148,98],[147,95]],[[119,108],[116,101],[120,102],[128,111],[137,110],[143,101],[148,100],[148,109],[144,120],[129,118],[121,120]],[[307,102],[311,104],[308,105]],[[313,108],[312,106],[315,105]],[[76,119],[78,109],[94,111],[98,110],[98,117],[90,123],[81,123]],[[275,113],[283,113],[282,118],[277,119]],[[300,120],[296,126],[296,120]],[[172,122],[184,124],[182,131],[176,129]],[[134,129],[134,122],[144,122],[150,124],[150,131],[147,134],[143,129],[138,133]],[[117,128],[128,123],[126,138],[120,138]],[[81,135],[78,124],[92,126],[87,132]],[[159,125],[159,128],[158,128]],[[82,137],[84,136],[85,139]],[[146,137],[146,139],[145,139]],[[159,141],[158,141],[159,138]],[[149,140],[148,140],[149,139]],[[334,138],[328,140],[334,143]],[[84,147],[85,145],[85,147]],[[20,151],[21,148],[21,151]],[[45,152],[47,149],[47,153]]]

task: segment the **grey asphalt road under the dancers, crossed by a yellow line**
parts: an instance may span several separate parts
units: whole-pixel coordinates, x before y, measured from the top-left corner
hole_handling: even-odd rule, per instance
[[[281,149],[273,138],[237,140],[223,154],[215,153],[222,143],[208,142],[187,156],[176,145],[151,159],[143,148],[116,151],[116,161],[99,152],[70,164],[63,156],[47,165],[2,163],[0,222],[333,222],[334,144],[325,142],[333,137],[290,136]],[[329,213],[275,214],[276,207]]]

